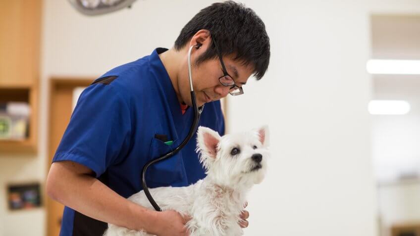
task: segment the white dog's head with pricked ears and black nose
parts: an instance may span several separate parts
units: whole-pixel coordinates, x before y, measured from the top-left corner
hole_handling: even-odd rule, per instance
[[[222,186],[259,184],[267,169],[268,127],[220,137],[199,127],[197,150],[208,178]]]

